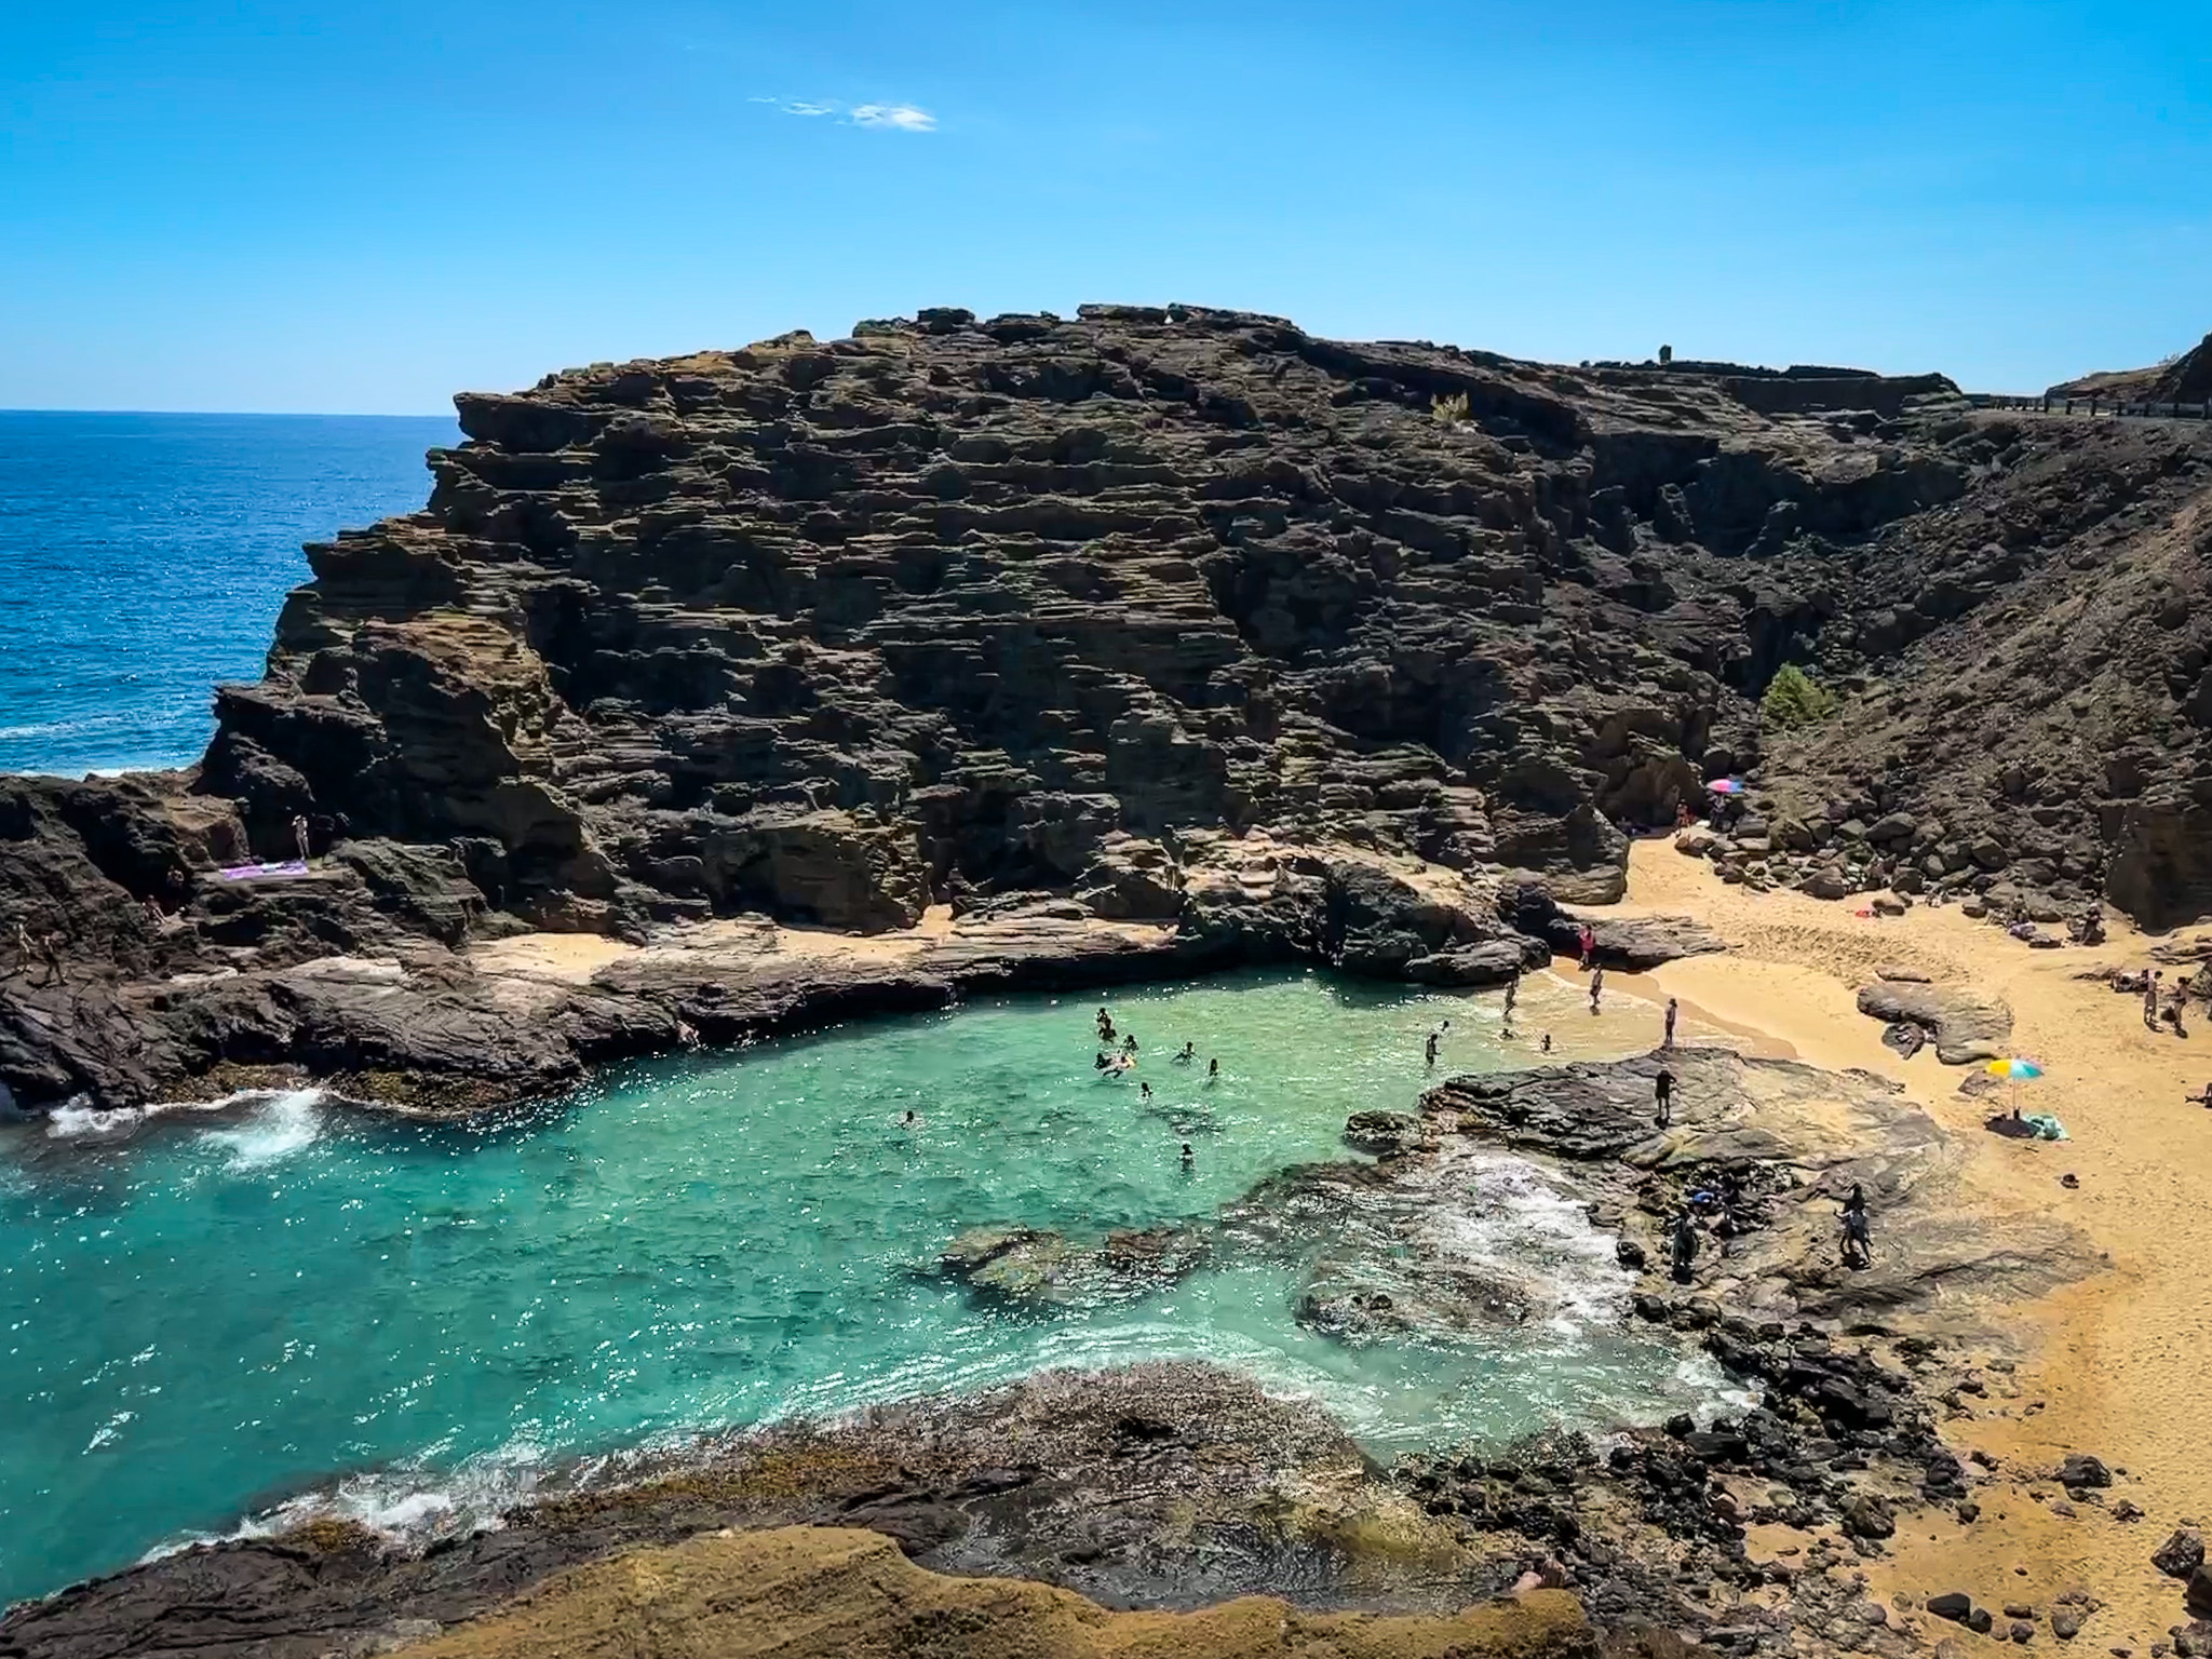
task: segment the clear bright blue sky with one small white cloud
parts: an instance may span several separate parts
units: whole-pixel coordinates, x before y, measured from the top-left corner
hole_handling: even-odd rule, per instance
[[[0,407],[1201,301],[2033,389],[2212,330],[2205,0],[0,4]]]

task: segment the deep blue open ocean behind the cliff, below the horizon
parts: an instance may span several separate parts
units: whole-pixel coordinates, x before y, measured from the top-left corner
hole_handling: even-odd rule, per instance
[[[429,498],[445,416],[0,409],[0,772],[188,765],[303,542]]]

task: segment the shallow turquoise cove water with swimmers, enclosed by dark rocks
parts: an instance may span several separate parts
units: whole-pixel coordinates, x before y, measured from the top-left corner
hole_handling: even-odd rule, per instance
[[[1564,1024],[1568,987],[1533,980],[1524,1013],[1546,995]],[[456,1526],[580,1453],[1040,1365],[1214,1356],[1323,1398],[1378,1449],[1650,1416],[1692,1380],[1621,1325],[1608,1241],[1511,1159],[1455,1175],[1436,1225],[1548,1276],[1559,1310],[1464,1343],[1316,1336],[1292,1318],[1301,1263],[1234,1252],[1135,1301],[1048,1310],[918,1272],[969,1225],[1095,1241],[1343,1157],[1347,1113],[1413,1102],[1438,1020],[1447,1071],[1498,1064],[1495,1006],[1245,975],[1115,995],[1144,1044],[1119,1082],[1091,1064],[1095,1002],[1011,998],[644,1064],[471,1126],[312,1093],[15,1126],[0,1595],[279,1504]],[[1197,1066],[1168,1062],[1186,1037]]]

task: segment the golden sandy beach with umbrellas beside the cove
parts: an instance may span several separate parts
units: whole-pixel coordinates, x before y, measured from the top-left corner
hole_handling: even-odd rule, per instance
[[[1966,1181],[1986,1197],[1993,1225],[2020,1210],[2051,1214],[2108,1256],[2106,1272],[2015,1310],[2015,1387],[1991,1378],[1989,1398],[1966,1400],[1971,1416],[1944,1427],[1962,1455],[1997,1460],[2000,1478],[1975,1493],[1980,1520],[1962,1526],[1949,1509],[1900,1520],[1891,1555],[1869,1562],[1867,1575],[1882,1599],[1960,1588],[1991,1606],[2048,1608],[2086,1588],[2106,1606],[2084,1641],[2115,1650],[2163,1641],[2183,1619],[2181,1586],[2150,1566],[2150,1553],[2174,1526],[2212,1517],[2201,1420],[2212,1383],[2212,1110],[2183,1102],[2212,1077],[2212,1033],[2152,1033],[2139,998],[2079,978],[2150,962],[2159,940],[2126,922],[2097,949],[2031,951],[1949,907],[1900,918],[1854,909],[1856,900],[1730,887],[1710,863],[1644,841],[1628,900],[1606,914],[1697,916],[1730,949],[1608,975],[1608,991],[1639,998],[1626,1018],[1655,1018],[1646,1000],[1674,995],[1686,1022],[1741,1033],[1767,1053],[1893,1077],[1958,1135]],[[2006,1102],[1958,1093],[1978,1066],[1944,1066],[1933,1046],[1911,1060],[1887,1048],[1882,1026],[1854,1004],[1880,964],[2004,1000],[2013,1053],[2046,1068],[2022,1086],[2022,1106],[2055,1113],[2070,1139],[1993,1135],[1984,1121]],[[2079,1186],[2062,1186],[2064,1175]],[[2070,1451],[2124,1469],[2106,1504],[2132,1502],[2143,1520],[2119,1522],[2093,1504],[2068,1517],[2066,1493],[2037,1475]]]

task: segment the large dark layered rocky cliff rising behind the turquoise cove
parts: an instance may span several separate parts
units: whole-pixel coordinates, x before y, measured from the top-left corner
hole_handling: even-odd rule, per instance
[[[1486,982],[1542,958],[1520,883],[1617,896],[1624,832],[1743,768],[1818,834],[1940,812],[1907,849],[1969,880],[2212,907],[2194,436],[1119,305],[458,407],[425,511],[310,549],[195,772],[0,785],[22,1104],[283,1064],[529,1093],[684,1031],[1254,958]],[[1763,757],[1792,659],[1860,701]],[[307,876],[217,874],[294,818]],[[728,938],[931,905],[898,971]],[[487,973],[531,929],[641,956]]]

